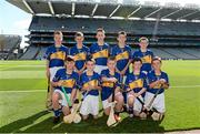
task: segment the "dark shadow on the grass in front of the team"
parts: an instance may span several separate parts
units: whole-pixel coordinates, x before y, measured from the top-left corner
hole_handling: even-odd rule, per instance
[[[101,116],[98,120],[90,117],[88,121],[82,121],[79,124],[59,124],[52,123],[52,117],[47,117],[38,124],[33,124],[36,120],[48,114],[42,111],[30,117],[14,121],[0,128],[1,133],[163,133],[164,128],[159,122],[152,120],[123,118],[116,127],[108,127],[108,116]],[[27,126],[27,127],[26,127]],[[26,128],[22,128],[26,127]],[[173,130],[172,130],[173,131]],[[177,130],[174,130],[177,131]],[[179,130],[183,131],[183,130]]]

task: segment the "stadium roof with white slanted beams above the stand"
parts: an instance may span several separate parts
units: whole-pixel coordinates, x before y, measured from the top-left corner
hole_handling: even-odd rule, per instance
[[[117,0],[7,0],[23,11],[33,16],[61,16],[61,17],[104,17],[126,19],[169,19],[169,20],[200,20],[200,8],[197,4],[166,3],[148,1],[140,4],[118,3]]]

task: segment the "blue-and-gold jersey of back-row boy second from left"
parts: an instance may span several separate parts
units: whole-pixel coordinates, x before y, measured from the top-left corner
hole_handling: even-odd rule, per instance
[[[69,55],[73,55],[76,68],[81,70],[86,63],[87,56],[89,55],[89,48],[84,45],[82,45],[82,49],[78,49],[77,45],[72,47],[69,51]]]

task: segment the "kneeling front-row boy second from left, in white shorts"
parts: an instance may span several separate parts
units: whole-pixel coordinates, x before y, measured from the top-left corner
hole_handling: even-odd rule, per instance
[[[86,65],[87,70],[80,76],[81,91],[83,92],[80,113],[83,120],[87,120],[89,114],[92,114],[93,118],[98,118],[99,90],[101,90],[100,75],[93,71],[96,68],[96,61],[93,59],[88,59]]]

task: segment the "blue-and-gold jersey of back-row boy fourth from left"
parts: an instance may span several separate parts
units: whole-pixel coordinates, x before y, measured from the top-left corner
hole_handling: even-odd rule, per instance
[[[129,45],[124,48],[119,48],[116,45],[112,48],[111,55],[116,56],[117,68],[119,71],[122,71],[131,59],[132,50]],[[126,75],[129,73],[129,68],[127,69]]]

